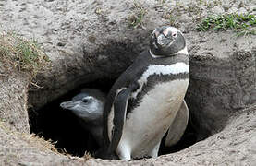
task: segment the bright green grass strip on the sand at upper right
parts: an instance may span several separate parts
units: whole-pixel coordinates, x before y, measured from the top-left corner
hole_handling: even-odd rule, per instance
[[[197,30],[236,30],[240,34],[255,34],[256,17],[250,14],[212,15],[202,19]]]

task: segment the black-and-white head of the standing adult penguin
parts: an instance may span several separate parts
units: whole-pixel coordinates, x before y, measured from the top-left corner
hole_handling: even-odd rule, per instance
[[[170,26],[153,30],[150,49],[151,53],[156,56],[171,56],[184,49],[187,52],[186,41],[182,32]]]

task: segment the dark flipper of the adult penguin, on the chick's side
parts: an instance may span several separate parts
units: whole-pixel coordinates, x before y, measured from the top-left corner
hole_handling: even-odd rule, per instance
[[[108,148],[108,153],[111,154],[116,151],[121,136],[123,134],[123,127],[127,115],[128,99],[130,93],[138,88],[137,84],[132,84],[128,88],[121,89],[116,95],[114,101],[114,129],[112,139]]]

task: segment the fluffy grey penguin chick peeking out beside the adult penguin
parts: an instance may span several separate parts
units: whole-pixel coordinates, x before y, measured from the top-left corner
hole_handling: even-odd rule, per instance
[[[98,89],[82,89],[71,101],[60,103],[61,108],[70,110],[79,117],[80,125],[91,133],[100,146],[105,98],[104,93]]]

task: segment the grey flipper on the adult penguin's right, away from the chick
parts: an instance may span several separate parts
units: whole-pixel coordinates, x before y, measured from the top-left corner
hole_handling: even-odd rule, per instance
[[[189,121],[189,108],[186,104],[186,101],[183,100],[173,124],[168,129],[168,134],[165,138],[166,147],[172,147],[175,144],[177,144],[177,142],[180,140],[181,136],[183,136],[186,130],[188,121]]]

